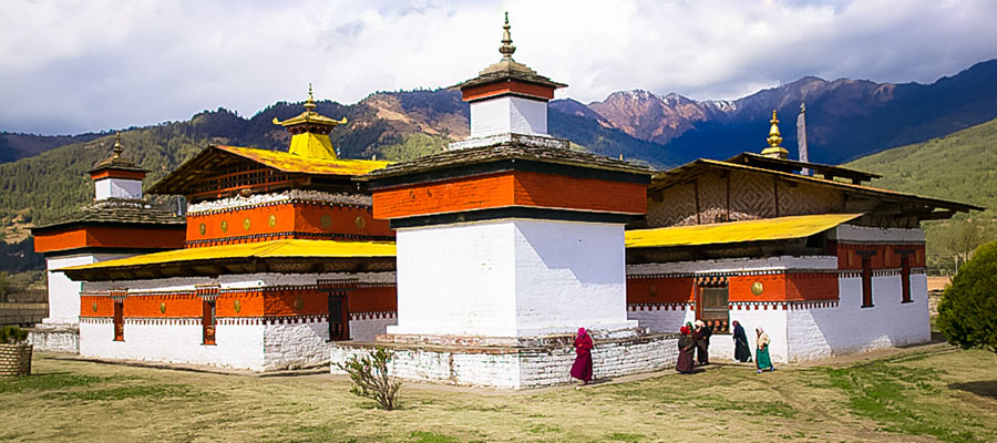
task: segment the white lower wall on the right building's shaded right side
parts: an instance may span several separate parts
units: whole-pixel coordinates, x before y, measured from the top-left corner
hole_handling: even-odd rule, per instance
[[[931,340],[927,276],[911,275],[912,302],[902,303],[901,276],[873,277],[873,307],[862,308],[862,278],[839,279],[836,308],[789,311],[791,357],[815,360]]]

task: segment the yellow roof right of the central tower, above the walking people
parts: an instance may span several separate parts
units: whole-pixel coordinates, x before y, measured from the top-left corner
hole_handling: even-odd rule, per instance
[[[862,214],[820,214],[626,231],[627,248],[662,248],[810,237]]]

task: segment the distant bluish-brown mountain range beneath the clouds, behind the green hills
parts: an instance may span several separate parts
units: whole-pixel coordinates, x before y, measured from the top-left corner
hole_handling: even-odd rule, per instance
[[[588,104],[556,100],[551,103],[548,127],[552,135],[592,152],[623,154],[668,167],[699,157],[726,158],[762,150],[771,111],[777,110],[783,145],[795,157],[795,120],[803,102],[810,159],[840,164],[997,117],[997,60],[927,85],[805,76],[733,101],[696,101],[641,90],[615,92]],[[411,156],[398,151],[398,146],[412,144],[410,136],[418,135],[421,142],[415,145],[431,152],[469,133],[469,106],[452,90],[379,92],[352,105],[322,102],[319,111],[349,120],[333,133],[333,142],[347,157],[369,157],[384,152],[386,146]],[[286,134],[270,120],[298,112],[297,103],[280,102],[250,119],[219,109],[166,125],[191,123],[196,134],[230,144],[282,148]],[[104,135],[0,133],[0,163]]]

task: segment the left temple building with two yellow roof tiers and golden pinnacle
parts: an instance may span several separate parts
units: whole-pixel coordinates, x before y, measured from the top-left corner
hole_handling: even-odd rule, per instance
[[[328,361],[329,340],[394,322],[394,234],[352,178],[387,162],[341,159],[346,120],[275,124],[287,152],[208,146],[150,193],[187,198],[183,248],[65,269],[82,280],[80,354],[278,370]]]

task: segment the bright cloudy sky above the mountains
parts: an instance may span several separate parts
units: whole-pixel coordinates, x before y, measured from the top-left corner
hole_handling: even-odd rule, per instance
[[[931,83],[997,58],[993,0],[0,2],[0,131],[66,134],[224,106],[356,103],[515,59],[569,84],[736,99],[803,75]]]

